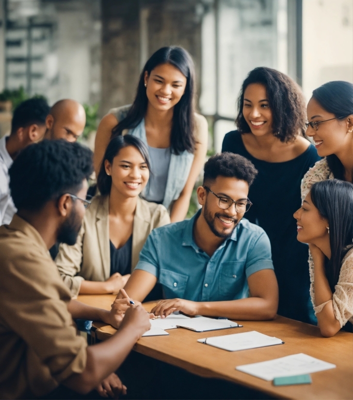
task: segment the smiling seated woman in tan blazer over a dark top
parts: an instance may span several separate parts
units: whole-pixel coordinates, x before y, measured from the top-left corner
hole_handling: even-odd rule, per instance
[[[86,211],[76,244],[61,244],[55,259],[73,297],[119,292],[149,233],[170,223],[163,205],[139,197],[148,179],[144,143],[131,135],[112,138],[97,178],[100,195]]]

